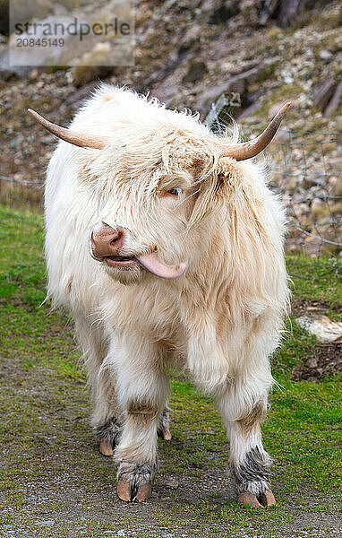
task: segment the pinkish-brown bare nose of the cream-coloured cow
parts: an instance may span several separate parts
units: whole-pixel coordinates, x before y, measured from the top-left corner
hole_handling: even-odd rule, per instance
[[[120,227],[114,229],[106,222],[101,222],[91,232],[90,245],[94,257],[120,255],[124,245],[124,229]]]

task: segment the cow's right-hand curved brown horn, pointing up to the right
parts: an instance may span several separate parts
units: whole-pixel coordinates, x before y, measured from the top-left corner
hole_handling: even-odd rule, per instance
[[[257,138],[250,140],[249,142],[226,145],[221,153],[221,157],[232,157],[236,161],[244,161],[245,159],[252,159],[252,157],[255,157],[255,155],[261,153],[269,145],[273,136],[277,133],[281,120],[285,116],[286,109],[291,104],[292,103],[289,101],[279,108],[276,116],[273,117],[269,126],[267,126],[263,133],[259,134]]]

